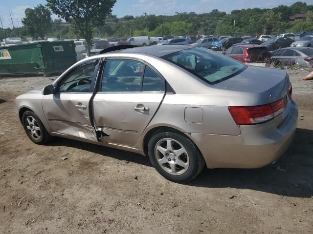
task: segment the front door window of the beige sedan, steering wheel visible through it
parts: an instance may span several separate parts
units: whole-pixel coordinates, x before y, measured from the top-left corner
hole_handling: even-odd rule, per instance
[[[60,92],[91,92],[95,65],[89,63],[71,72],[60,83]]]

